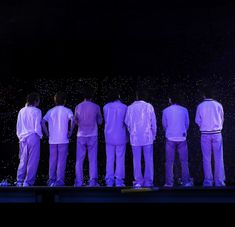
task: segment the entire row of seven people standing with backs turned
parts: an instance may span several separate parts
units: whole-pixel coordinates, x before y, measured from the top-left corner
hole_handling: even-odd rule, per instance
[[[126,106],[120,101],[117,92],[114,99],[103,108],[106,142],[106,185],[125,186],[125,152],[130,140],[133,153],[133,186],[152,187],[154,181],[153,142],[157,135],[156,115],[153,106],[144,101],[143,93],[136,93],[136,101]],[[17,170],[17,186],[32,186],[35,183],[40,159],[40,139],[49,138],[49,180],[48,186],[63,186],[69,138],[75,125],[77,130],[76,178],[74,186],[84,185],[83,163],[88,152],[89,186],[98,183],[98,125],[102,124],[100,107],[91,101],[91,93],[86,92],[85,100],[75,108],[75,114],[66,108],[64,93],[54,97],[55,107],[42,118],[39,106],[40,97],[32,93],[27,104],[19,111],[17,136],[20,141],[20,163]],[[193,186],[188,167],[187,130],[189,128],[188,110],[179,103],[178,95],[169,98],[169,107],[163,110],[162,125],[165,130],[166,162],[165,187],[174,186],[173,164],[178,151],[182,169],[182,183]],[[210,90],[205,90],[204,101],[196,111],[196,123],[201,131],[201,149],[203,155],[204,186],[225,186],[222,127],[223,107],[211,98]],[[145,170],[142,173],[142,152]],[[212,152],[215,173],[212,172]],[[115,168],[116,166],[116,168]]]

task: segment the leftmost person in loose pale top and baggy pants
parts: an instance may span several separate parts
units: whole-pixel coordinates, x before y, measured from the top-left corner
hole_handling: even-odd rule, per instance
[[[20,141],[19,158],[17,169],[18,187],[34,185],[40,158],[40,139],[42,138],[41,110],[37,108],[40,103],[38,93],[27,96],[27,104],[19,111],[17,118],[17,137]]]

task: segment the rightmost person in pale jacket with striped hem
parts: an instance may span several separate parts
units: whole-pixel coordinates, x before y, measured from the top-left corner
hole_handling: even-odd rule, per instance
[[[203,102],[197,107],[195,122],[201,131],[201,149],[203,156],[204,187],[225,186],[222,128],[224,111],[222,105],[213,98],[211,87],[203,91]],[[214,177],[211,168],[211,156],[214,156]]]

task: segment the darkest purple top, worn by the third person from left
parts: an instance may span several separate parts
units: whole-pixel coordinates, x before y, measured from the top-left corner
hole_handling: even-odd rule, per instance
[[[102,124],[100,107],[91,101],[79,103],[75,108],[75,122],[78,124],[78,137],[97,136],[97,124]]]

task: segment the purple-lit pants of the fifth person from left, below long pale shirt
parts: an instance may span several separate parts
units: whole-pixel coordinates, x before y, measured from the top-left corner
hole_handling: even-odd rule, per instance
[[[141,169],[141,155],[144,151],[145,171],[144,177]],[[153,144],[146,146],[132,146],[133,164],[134,164],[134,184],[141,186],[153,185]]]

